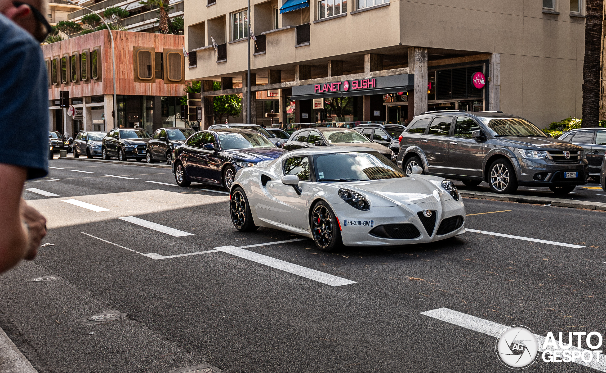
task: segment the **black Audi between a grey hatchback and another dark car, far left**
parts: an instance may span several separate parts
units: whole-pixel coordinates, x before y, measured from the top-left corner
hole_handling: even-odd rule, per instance
[[[110,160],[112,156],[118,156],[118,160],[125,161],[135,158],[141,161],[147,152],[147,142],[150,134],[142,129],[115,128],[107,133],[101,144],[101,155],[104,160]]]

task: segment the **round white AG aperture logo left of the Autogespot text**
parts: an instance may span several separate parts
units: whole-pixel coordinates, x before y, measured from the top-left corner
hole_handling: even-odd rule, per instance
[[[511,369],[524,369],[534,363],[538,354],[536,335],[522,325],[509,326],[496,340],[496,355]]]

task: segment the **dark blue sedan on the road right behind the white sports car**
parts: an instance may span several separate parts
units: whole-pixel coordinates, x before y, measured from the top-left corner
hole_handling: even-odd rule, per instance
[[[182,187],[196,181],[230,189],[239,169],[275,160],[285,152],[255,130],[205,130],[176,147],[173,174]]]

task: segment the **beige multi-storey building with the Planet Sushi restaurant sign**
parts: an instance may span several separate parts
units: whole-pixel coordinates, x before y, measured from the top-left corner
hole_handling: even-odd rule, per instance
[[[583,0],[251,0],[250,28],[247,0],[184,9],[185,79],[204,83],[205,109],[218,95],[246,101],[251,30],[251,92],[275,99],[282,123],[405,123],[464,109],[545,127],[581,116]],[[255,123],[265,105],[252,102]]]

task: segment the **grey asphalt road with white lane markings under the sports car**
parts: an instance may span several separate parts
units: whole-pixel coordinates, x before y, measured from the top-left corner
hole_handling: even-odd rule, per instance
[[[26,188],[56,196],[25,198],[47,216],[54,246],[0,275],[0,327],[39,372],[509,371],[494,337],[421,314],[441,307],[556,338],[606,335],[606,212],[465,199],[465,227],[517,238],[467,232],[324,254],[310,240],[279,243],[301,237],[278,230],[239,233],[227,195],[175,186],[170,169],[51,166]],[[225,246],[247,246],[251,259],[215,249]],[[259,263],[275,259],[355,283]],[[58,280],[30,281],[45,276]],[[128,317],[87,320],[119,312]],[[539,357],[526,371],[595,371],[553,364]]]

